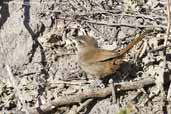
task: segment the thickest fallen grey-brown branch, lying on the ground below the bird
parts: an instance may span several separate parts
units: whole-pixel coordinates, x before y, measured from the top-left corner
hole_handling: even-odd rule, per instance
[[[116,85],[117,91],[127,91],[127,90],[140,89],[145,86],[149,86],[153,84],[155,84],[155,80],[149,77],[149,78],[134,81],[134,82],[116,83],[115,85]],[[43,112],[47,112],[47,111],[54,109],[55,107],[80,103],[81,101],[84,101],[89,98],[105,98],[111,94],[112,94],[111,87],[106,87],[103,89],[91,88],[88,90],[84,90],[83,92],[76,94],[76,95],[58,97],[55,100],[48,102],[46,104],[43,104],[37,108],[30,108],[29,113],[30,114],[42,114]]]

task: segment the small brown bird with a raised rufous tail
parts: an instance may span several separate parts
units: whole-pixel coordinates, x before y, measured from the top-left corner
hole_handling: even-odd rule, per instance
[[[121,49],[119,52],[99,48],[97,41],[89,35],[80,36],[75,39],[79,65],[86,73],[92,76],[92,79],[104,78],[120,68],[125,54],[141,41],[147,33],[149,31],[141,33],[126,48]],[[90,77],[88,78],[91,79]]]

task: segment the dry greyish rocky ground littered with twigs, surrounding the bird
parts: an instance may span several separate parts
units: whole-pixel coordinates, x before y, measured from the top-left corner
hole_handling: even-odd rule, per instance
[[[166,53],[163,48],[170,32],[167,4],[164,0],[1,0],[1,114],[29,114],[36,107],[40,110],[34,114],[169,114],[170,39]],[[111,92],[99,97],[96,91],[77,102],[74,96],[91,88],[82,83],[87,74],[76,59],[75,34],[87,31],[100,47],[114,50],[126,47],[146,29],[153,33],[127,54],[126,63],[109,79],[131,84],[150,77],[154,82],[116,91],[117,103]],[[109,79],[104,90],[110,88]]]

